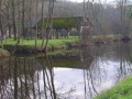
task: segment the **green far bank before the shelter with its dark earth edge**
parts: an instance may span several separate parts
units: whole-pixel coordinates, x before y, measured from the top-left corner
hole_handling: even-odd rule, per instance
[[[69,38],[61,37],[55,40],[50,40],[47,44],[47,51],[54,51],[54,50],[62,50],[67,48],[70,45],[77,43],[79,40],[78,36],[70,36]],[[46,41],[44,41],[45,43]],[[18,46],[16,41],[13,38],[7,38],[3,42],[3,47],[8,50],[9,52],[15,52],[18,53],[37,53],[42,52],[42,40],[37,40],[37,46],[35,47],[35,40],[26,38],[26,40],[20,40],[20,44]]]

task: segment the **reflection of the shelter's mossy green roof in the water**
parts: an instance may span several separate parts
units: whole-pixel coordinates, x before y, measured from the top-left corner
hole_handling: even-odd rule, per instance
[[[76,57],[76,56],[75,57],[74,56],[72,56],[72,57],[59,56],[59,57],[53,58],[52,64],[53,64],[53,67],[85,69],[85,68],[89,68],[92,61],[94,61],[94,58],[89,58],[89,61],[87,61],[87,66],[88,67],[85,67],[85,66],[81,66],[81,62],[80,62],[79,57]],[[42,58],[38,58],[38,62],[42,65],[45,64],[46,66],[48,66],[48,63],[45,62]]]

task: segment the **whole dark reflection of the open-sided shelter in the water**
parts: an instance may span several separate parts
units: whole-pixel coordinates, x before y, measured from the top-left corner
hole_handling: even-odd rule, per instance
[[[91,50],[91,48],[90,48]],[[76,68],[76,69],[88,69],[94,62],[95,57],[91,55],[91,51],[87,48],[89,52],[79,51],[79,52],[67,52],[63,54],[52,55],[50,57],[50,62],[52,62],[52,67],[65,67],[65,68]],[[50,66],[47,58],[37,58],[37,62],[41,65],[46,67]],[[82,66],[82,63],[86,65]]]

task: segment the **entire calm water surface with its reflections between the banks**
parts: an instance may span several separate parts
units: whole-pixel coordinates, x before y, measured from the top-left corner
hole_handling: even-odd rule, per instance
[[[132,72],[132,46],[90,46],[0,62],[0,99],[92,99]]]

